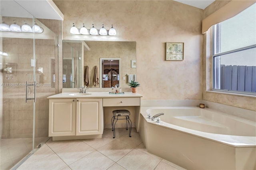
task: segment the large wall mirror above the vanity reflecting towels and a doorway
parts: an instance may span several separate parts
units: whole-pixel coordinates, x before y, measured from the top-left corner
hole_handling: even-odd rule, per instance
[[[63,40],[66,42],[67,40]],[[72,41],[73,43],[76,41]],[[81,41],[77,41],[81,42]],[[70,81],[70,85],[64,86],[64,88],[79,88],[86,85],[88,88],[110,88],[114,85],[119,85],[120,87],[130,87],[128,86],[128,75],[130,77],[135,77],[136,79],[136,68],[131,65],[131,61],[136,61],[136,42],[104,42],[104,41],[83,41],[84,50],[82,50],[81,55],[76,52],[75,54],[67,54],[63,52],[63,57],[65,56],[76,56],[79,60],[83,62],[81,69],[75,66],[78,60],[72,63],[70,59],[66,60],[70,63],[70,66],[65,66],[63,58],[63,74],[66,76],[67,81]],[[70,43],[67,45],[70,49]],[[76,47],[76,49],[78,49]],[[63,51],[72,51],[64,48]],[[73,50],[73,52],[76,50]],[[80,49],[78,50],[80,51]],[[78,55],[76,55],[78,54]],[[70,71],[68,72],[68,67]],[[66,68],[66,70],[64,70]],[[76,69],[77,68],[77,69]],[[72,70],[74,70],[72,72]],[[98,72],[98,77],[97,77]],[[70,75],[72,74],[72,75]],[[74,75],[76,81],[74,81]],[[80,76],[80,77],[79,77]],[[69,77],[69,79],[67,79]],[[72,81],[70,80],[72,78]],[[98,82],[95,81],[95,77],[98,78]],[[78,79],[81,81],[78,83]],[[72,82],[76,82],[73,83]]]

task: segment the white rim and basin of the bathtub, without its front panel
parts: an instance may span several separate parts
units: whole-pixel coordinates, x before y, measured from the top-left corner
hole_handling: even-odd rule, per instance
[[[196,113],[197,111],[198,113]],[[204,112],[199,113],[201,111]],[[160,123],[156,123],[156,121],[147,118],[148,113],[151,115],[164,113],[165,115],[160,116]],[[217,115],[212,115],[213,113]],[[143,115],[147,123],[164,126],[165,128],[192,134],[214,142],[233,147],[256,147],[256,122],[218,112],[214,109],[200,109],[199,107],[142,107],[141,115]],[[230,123],[230,127],[228,127],[228,123]],[[239,125],[240,128],[237,127]]]

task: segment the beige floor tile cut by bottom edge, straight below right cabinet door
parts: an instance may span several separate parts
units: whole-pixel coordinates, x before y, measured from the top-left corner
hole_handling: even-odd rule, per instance
[[[106,170],[115,162],[98,151],[94,151],[80,160],[70,164],[71,169],[76,170]]]

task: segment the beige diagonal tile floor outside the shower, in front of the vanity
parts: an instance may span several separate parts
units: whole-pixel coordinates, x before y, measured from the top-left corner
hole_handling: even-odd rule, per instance
[[[105,129],[100,139],[52,141],[50,138],[18,170],[184,170],[146,151],[139,134]]]

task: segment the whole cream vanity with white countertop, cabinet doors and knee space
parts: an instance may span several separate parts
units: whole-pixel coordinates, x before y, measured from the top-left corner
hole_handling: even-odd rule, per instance
[[[53,140],[101,138],[103,129],[112,126],[112,111],[116,109],[130,110],[132,125],[138,132],[141,97],[131,92],[59,93],[49,96],[49,136]],[[126,126],[122,121],[117,124],[116,128]]]

